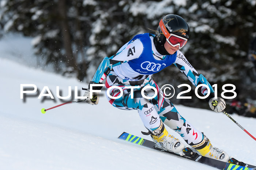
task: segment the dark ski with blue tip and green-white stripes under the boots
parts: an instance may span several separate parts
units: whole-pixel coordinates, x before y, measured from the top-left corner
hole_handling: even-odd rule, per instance
[[[193,149],[191,149],[189,147],[187,147],[183,150],[185,155],[180,156],[176,153],[165,151],[165,150],[155,147],[155,143],[153,141],[149,141],[147,139],[143,139],[143,138],[137,137],[135,135],[131,135],[126,132],[123,132],[118,138],[128,141],[128,142],[131,142],[131,143],[135,143],[137,145],[142,145],[142,146],[145,146],[145,147],[148,147],[151,149],[155,149],[155,150],[162,151],[162,152],[165,152],[165,153],[168,153],[171,155],[175,155],[177,157],[181,157],[181,158],[189,159],[189,160],[192,160],[195,162],[199,162],[204,165],[215,167],[215,168],[221,169],[221,170],[256,170],[256,166],[248,165],[243,162],[238,162],[236,159],[231,159],[227,163],[227,162],[222,162],[222,161],[219,161],[216,159],[204,157],[202,155],[199,155],[198,153],[196,153],[195,151],[193,151]]]

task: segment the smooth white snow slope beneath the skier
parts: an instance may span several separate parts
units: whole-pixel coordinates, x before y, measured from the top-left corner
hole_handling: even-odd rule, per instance
[[[100,98],[97,106],[66,104],[42,114],[42,108],[62,103],[56,98],[56,86],[60,86],[62,96],[66,96],[68,86],[72,90],[78,86],[80,90],[87,84],[24,66],[20,58],[33,56],[31,40],[20,37],[22,47],[16,41],[10,41],[0,40],[0,169],[214,169],[117,139],[123,131],[146,139],[150,137],[140,133],[146,129],[136,111],[118,110],[105,96]],[[38,94],[24,102],[20,99],[20,84],[35,84]],[[44,86],[49,87],[56,102],[37,99]],[[210,110],[176,107],[184,118],[207,135],[212,145],[256,165],[256,141],[227,116]],[[231,116],[256,136],[255,118]]]

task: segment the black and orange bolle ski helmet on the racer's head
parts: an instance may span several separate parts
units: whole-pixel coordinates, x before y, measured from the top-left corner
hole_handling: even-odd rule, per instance
[[[160,25],[164,25],[166,29],[161,29]],[[161,19],[156,32],[156,38],[159,44],[164,44],[166,41],[163,31],[167,31],[169,34],[172,33],[186,39],[189,37],[188,23],[182,17],[174,14],[166,15]]]

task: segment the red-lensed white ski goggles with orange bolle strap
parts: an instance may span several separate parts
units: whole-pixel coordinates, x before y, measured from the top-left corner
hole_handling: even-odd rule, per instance
[[[160,21],[159,26],[163,32],[163,35],[166,37],[166,41],[173,47],[179,46],[179,49],[185,46],[188,39],[175,35],[173,33],[169,33],[165,27],[165,24],[163,24],[163,20]]]

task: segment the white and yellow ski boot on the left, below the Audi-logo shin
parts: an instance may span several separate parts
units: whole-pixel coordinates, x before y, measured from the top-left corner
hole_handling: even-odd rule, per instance
[[[174,136],[167,132],[162,120],[160,126],[151,132],[151,138],[155,142],[156,147],[180,154],[181,156],[185,155],[182,152],[184,149],[183,143],[181,143],[179,139],[174,138]]]

